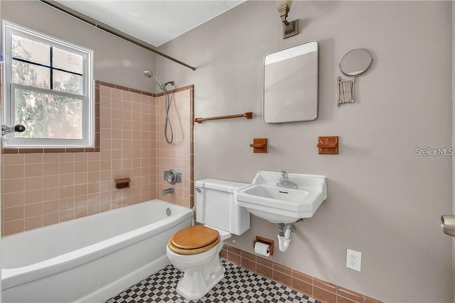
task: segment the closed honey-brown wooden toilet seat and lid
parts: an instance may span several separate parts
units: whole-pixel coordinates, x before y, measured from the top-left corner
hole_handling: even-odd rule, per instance
[[[168,248],[180,255],[203,253],[220,243],[220,233],[203,225],[189,226],[174,234]]]

